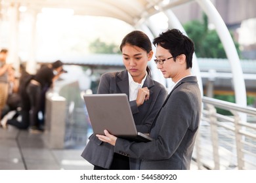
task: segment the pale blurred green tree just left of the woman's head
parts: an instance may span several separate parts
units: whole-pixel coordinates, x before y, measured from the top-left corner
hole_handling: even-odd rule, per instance
[[[91,53],[95,53],[95,54],[120,53],[119,47],[116,44],[114,43],[106,44],[106,42],[100,41],[99,38],[89,44],[89,50]]]

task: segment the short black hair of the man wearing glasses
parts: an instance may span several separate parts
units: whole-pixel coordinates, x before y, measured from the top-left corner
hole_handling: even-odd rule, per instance
[[[194,42],[178,29],[171,29],[161,33],[159,37],[154,39],[153,44],[169,50],[174,61],[176,61],[177,56],[184,54],[186,56],[186,69],[192,68],[192,57],[195,50]]]

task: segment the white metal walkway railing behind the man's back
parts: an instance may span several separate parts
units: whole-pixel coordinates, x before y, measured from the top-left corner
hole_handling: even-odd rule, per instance
[[[198,169],[256,169],[256,108],[203,97],[193,154]],[[232,116],[217,113],[228,110]]]

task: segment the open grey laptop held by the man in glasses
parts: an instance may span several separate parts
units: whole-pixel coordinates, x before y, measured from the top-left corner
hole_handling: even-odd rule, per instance
[[[130,141],[149,142],[153,140],[148,135],[137,132],[125,93],[85,94],[83,98],[93,133],[104,135],[104,129],[107,129],[112,135]]]

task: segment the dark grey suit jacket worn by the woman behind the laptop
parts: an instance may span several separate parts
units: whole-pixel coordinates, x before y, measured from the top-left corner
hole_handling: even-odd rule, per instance
[[[149,88],[150,99],[140,107],[137,107],[136,101],[130,101],[130,106],[137,130],[142,133],[149,133],[152,122],[167,96],[167,90],[149,76],[146,77],[143,87]],[[126,93],[129,96],[127,71],[102,75],[98,93]],[[98,140],[95,134],[91,135],[89,140],[81,156],[93,165],[109,169],[114,156],[114,146]]]

